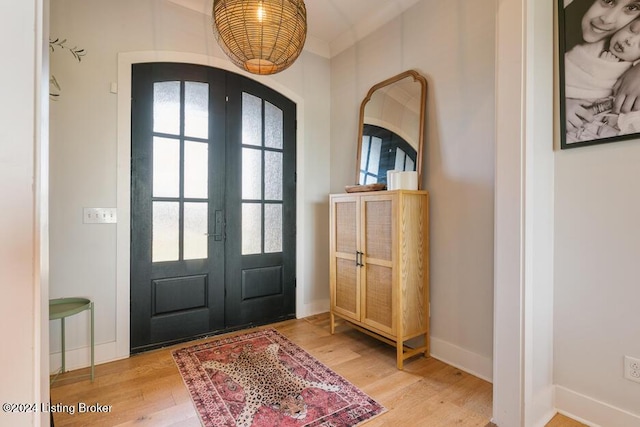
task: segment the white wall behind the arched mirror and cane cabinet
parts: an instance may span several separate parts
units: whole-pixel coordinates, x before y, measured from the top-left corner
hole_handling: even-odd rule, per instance
[[[494,0],[422,0],[331,61],[331,191],[354,184],[360,102],[407,69],[428,81],[432,354],[491,379]]]

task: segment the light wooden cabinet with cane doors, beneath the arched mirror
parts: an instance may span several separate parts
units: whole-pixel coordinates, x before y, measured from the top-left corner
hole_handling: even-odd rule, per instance
[[[429,194],[332,194],[330,206],[331,333],[338,316],[395,346],[398,369],[428,356]]]

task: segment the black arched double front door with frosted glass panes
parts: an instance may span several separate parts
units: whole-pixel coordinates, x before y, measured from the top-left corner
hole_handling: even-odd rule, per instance
[[[295,315],[295,115],[230,72],[133,66],[132,352]]]

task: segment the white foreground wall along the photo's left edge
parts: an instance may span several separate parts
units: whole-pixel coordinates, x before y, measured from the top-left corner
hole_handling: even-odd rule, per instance
[[[45,2],[46,3],[46,2]],[[47,118],[42,1],[0,3],[0,402],[47,402]],[[43,90],[44,95],[43,95]],[[2,426],[44,425],[47,414],[4,412]]]

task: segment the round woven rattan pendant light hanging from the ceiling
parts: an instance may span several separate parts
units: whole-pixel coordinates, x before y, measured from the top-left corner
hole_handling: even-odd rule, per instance
[[[303,0],[214,0],[213,32],[238,67],[274,74],[302,52],[307,9]]]

